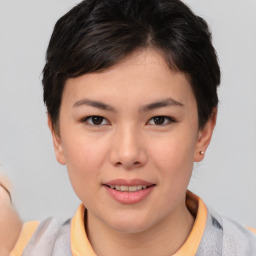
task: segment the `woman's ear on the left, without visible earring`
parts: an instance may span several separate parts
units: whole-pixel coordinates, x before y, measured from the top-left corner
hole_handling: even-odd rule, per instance
[[[54,129],[50,115],[47,114],[47,116],[48,116],[48,127],[52,133],[52,141],[53,141],[55,157],[60,164],[64,165],[64,164],[66,164],[66,161],[65,161],[64,154],[63,154],[63,148],[62,148],[62,144],[61,144],[60,135],[58,135],[56,133],[56,130]]]

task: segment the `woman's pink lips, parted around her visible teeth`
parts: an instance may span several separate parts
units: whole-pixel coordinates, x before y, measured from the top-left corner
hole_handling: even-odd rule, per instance
[[[148,186],[146,189],[142,189],[136,192],[121,192],[115,189],[110,188],[109,186],[115,185],[125,185],[125,186]],[[144,200],[148,197],[153,189],[155,188],[155,184],[140,180],[140,179],[133,179],[133,180],[124,180],[124,179],[116,179],[111,180],[103,184],[104,188],[107,190],[108,194],[111,198],[121,204],[136,204]]]

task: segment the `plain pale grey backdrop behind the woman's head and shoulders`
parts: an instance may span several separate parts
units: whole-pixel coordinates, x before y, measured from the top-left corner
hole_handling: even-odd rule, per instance
[[[69,217],[79,205],[54,157],[41,71],[57,19],[79,1],[0,0],[0,164],[23,220]],[[190,189],[256,227],[256,0],[187,0],[210,25],[222,70],[219,116]]]

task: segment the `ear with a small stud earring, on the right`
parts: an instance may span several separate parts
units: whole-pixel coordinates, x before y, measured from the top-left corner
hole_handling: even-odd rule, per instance
[[[211,141],[213,130],[217,119],[217,108],[214,108],[209,120],[205,126],[199,131],[196,148],[194,152],[194,161],[200,162],[204,158],[204,154]]]

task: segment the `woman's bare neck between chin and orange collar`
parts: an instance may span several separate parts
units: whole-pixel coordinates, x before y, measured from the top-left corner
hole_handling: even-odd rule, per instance
[[[184,202],[166,219],[138,233],[114,230],[88,212],[87,234],[97,256],[170,256],[185,243],[193,223]]]

